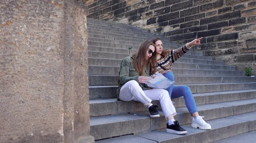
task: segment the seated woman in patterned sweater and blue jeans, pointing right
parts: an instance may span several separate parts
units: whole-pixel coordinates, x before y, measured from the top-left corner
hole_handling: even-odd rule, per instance
[[[172,67],[172,63],[174,63],[181,56],[187,53],[192,45],[199,45],[202,38],[203,37],[199,39],[194,39],[192,42],[186,43],[181,48],[175,50],[163,50],[163,43],[160,38],[151,39],[151,42],[153,42],[154,45],[156,45],[157,47],[157,71],[159,73],[162,73],[163,76],[165,76],[167,79],[174,81],[174,75],[172,73],[172,70],[170,70]],[[195,104],[195,99],[192,95],[191,89],[188,86],[173,86],[172,84],[172,86],[170,86],[166,90],[168,91],[171,98],[179,98],[182,96],[184,97],[186,107],[188,108],[190,114],[193,116],[191,125],[192,127],[199,129],[212,129],[211,125],[203,120],[204,116],[198,115],[198,109]]]

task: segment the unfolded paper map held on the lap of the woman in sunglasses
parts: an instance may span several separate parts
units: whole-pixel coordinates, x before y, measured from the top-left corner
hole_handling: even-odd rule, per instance
[[[158,72],[150,76],[150,78],[151,80],[147,80],[145,82],[145,84],[147,84],[148,87],[166,89],[170,87],[172,84],[174,84],[174,81],[170,81]]]

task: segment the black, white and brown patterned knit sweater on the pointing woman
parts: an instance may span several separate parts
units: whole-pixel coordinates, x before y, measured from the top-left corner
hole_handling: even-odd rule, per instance
[[[161,64],[162,67],[164,67],[166,70],[170,70],[172,67],[172,63],[177,61],[181,56],[183,56],[186,52],[190,50],[191,47],[189,47],[189,43],[186,43],[181,48],[175,49],[175,50],[168,50],[167,56],[160,56],[157,57],[158,64]],[[158,66],[157,72],[162,73],[164,70]]]

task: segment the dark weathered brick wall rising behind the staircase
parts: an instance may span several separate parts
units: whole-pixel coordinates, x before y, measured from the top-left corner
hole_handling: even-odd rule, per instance
[[[88,0],[87,15],[180,44],[203,36],[196,50],[256,75],[256,0]]]

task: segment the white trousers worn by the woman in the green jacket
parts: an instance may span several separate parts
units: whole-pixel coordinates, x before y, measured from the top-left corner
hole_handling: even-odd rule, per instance
[[[165,118],[169,115],[176,115],[176,110],[172,104],[171,98],[167,90],[153,88],[152,90],[142,90],[137,81],[131,80],[122,86],[119,99],[122,101],[140,101],[144,105],[151,103],[151,101],[159,100]]]

